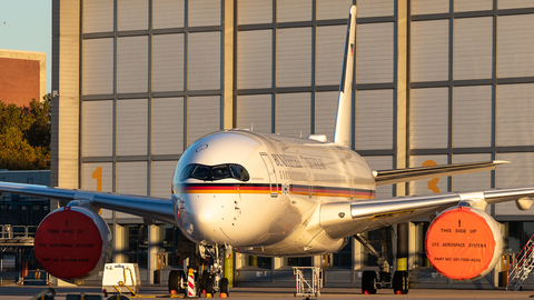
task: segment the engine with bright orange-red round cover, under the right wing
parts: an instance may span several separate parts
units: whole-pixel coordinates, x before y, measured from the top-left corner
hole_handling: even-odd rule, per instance
[[[425,246],[428,260],[442,274],[475,280],[497,263],[503,238],[498,223],[483,210],[455,207],[434,219]]]

